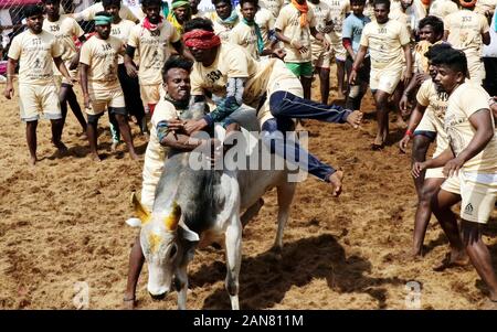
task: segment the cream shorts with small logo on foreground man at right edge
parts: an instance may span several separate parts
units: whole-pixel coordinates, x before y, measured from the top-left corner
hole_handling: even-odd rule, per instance
[[[442,189],[461,195],[461,218],[486,224],[497,197],[497,174],[479,174],[459,171],[458,176],[445,180]]]

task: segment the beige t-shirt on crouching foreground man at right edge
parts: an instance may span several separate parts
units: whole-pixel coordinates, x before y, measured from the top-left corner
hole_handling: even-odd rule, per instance
[[[444,128],[455,156],[467,148],[476,129],[469,117],[479,109],[489,109],[489,96],[482,86],[464,83],[448,97]],[[491,113],[490,113],[491,114]],[[494,121],[491,121],[494,126]],[[497,173],[497,137],[494,135],[485,149],[466,161],[463,170],[477,173]]]

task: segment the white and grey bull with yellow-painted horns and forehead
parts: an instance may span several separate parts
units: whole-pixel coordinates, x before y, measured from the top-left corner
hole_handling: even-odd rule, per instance
[[[252,152],[262,153],[261,149],[263,144]],[[276,186],[279,210],[275,247],[281,249],[296,183],[287,181],[286,170],[192,170],[187,162],[191,153],[198,152],[177,153],[166,161],[167,171],[159,181],[151,213],[133,199],[141,223],[136,218],[127,223],[141,224],[141,249],[149,269],[147,288],[154,298],[162,298],[176,277],[178,308],[186,309],[187,266],[197,246],[216,242],[225,248],[225,287],[231,307],[240,309],[242,222],[257,214],[261,197]],[[245,213],[241,216],[242,211]]]

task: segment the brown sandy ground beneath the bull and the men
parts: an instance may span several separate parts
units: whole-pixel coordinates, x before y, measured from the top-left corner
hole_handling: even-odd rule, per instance
[[[336,90],[331,99],[335,95]],[[123,146],[118,153],[109,150],[105,118],[99,144],[106,158],[92,162],[70,113],[63,136],[68,156],[54,153],[49,122],[42,121],[42,160],[30,167],[18,96],[13,101],[0,98],[0,308],[73,309],[84,294],[82,285],[87,285],[91,309],[119,309],[137,235],[124,221],[131,216],[129,193],[140,189],[142,161],[129,160]],[[368,97],[362,110],[372,109]],[[434,218],[424,259],[413,261],[406,255],[416,203],[409,157],[395,144],[369,150],[376,128],[372,115],[359,130],[315,121],[307,121],[306,128],[311,132],[310,150],[343,168],[343,193],[331,199],[329,188],[310,178],[298,185],[282,260],[268,253],[277,206],[274,191],[267,193],[265,206],[243,236],[241,308],[405,309],[416,294],[422,309],[483,308],[486,287],[473,268],[432,270],[447,253]],[[146,141],[136,126],[133,131],[144,154]],[[391,141],[402,132],[391,126]],[[485,240],[497,267],[496,233],[494,213]],[[198,250],[189,275],[189,308],[230,308],[222,251]],[[176,308],[176,293],[152,301],[146,280],[145,268],[138,308]],[[410,281],[417,282],[419,293],[409,292]]]

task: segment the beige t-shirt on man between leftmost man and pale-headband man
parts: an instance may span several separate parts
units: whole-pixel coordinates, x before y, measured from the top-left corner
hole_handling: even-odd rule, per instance
[[[61,15],[57,21],[50,22],[49,19],[43,20],[43,30],[52,33],[57,40],[62,49],[62,60],[68,68],[68,64],[73,56],[77,53],[74,38],[78,39],[85,34],[76,20],[67,15]],[[54,64],[55,65],[55,64]],[[54,71],[59,73],[59,71]]]

